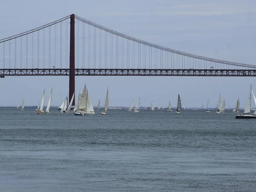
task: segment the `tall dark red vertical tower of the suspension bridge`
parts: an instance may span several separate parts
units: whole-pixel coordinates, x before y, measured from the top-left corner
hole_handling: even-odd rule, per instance
[[[70,76],[69,76],[69,102],[75,93],[75,15],[70,15]],[[75,105],[75,98],[72,105]]]

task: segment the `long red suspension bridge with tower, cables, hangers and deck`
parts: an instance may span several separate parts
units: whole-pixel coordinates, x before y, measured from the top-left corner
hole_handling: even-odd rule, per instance
[[[255,77],[256,65],[151,44],[73,14],[1,39],[0,77],[5,76],[69,76],[71,100],[75,76]]]

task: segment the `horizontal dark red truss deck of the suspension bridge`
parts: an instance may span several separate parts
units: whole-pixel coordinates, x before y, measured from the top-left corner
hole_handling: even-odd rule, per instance
[[[69,76],[70,69],[0,69],[4,76]],[[75,76],[251,76],[256,70],[75,69]]]

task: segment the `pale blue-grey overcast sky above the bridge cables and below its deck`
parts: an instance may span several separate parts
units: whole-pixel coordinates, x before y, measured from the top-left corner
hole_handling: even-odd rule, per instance
[[[24,0],[1,2],[0,39],[42,26],[71,14],[135,38],[183,52],[227,61],[255,64],[255,0]],[[0,68],[2,65],[0,64]],[[53,87],[52,105],[68,95],[67,77],[9,77],[0,79],[0,106],[38,105]],[[255,82],[255,83],[254,83]],[[76,77],[76,97],[87,83],[93,105],[104,105],[109,87],[110,106],[177,106],[180,93],[186,107],[215,107],[221,93],[226,107],[246,105],[250,77]],[[76,98],[77,99],[77,98]],[[252,102],[253,103],[253,102]],[[253,104],[252,107],[255,105]]]

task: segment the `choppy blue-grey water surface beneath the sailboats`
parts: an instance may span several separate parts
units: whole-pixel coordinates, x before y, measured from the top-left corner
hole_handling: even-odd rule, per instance
[[[0,108],[1,192],[256,191],[256,120]]]

